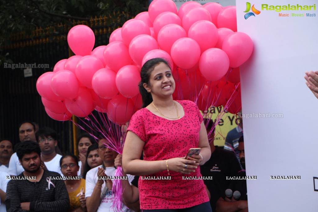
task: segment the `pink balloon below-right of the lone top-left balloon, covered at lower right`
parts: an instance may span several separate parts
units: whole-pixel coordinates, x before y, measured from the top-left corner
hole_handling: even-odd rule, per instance
[[[77,62],[75,74],[81,84],[88,88],[93,88],[93,75],[101,68],[104,68],[104,66],[100,59],[91,55],[87,55],[79,59]]]

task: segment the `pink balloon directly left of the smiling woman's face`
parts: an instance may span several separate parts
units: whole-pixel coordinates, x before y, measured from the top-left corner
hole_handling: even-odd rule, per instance
[[[135,65],[125,65],[116,74],[116,86],[119,92],[127,98],[139,93],[138,84],[141,81],[140,70]]]

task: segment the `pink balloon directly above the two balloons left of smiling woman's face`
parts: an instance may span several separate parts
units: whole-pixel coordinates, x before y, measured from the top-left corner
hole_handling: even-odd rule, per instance
[[[115,72],[118,72],[122,66],[132,63],[128,47],[119,41],[107,45],[104,51],[104,60],[107,66]]]

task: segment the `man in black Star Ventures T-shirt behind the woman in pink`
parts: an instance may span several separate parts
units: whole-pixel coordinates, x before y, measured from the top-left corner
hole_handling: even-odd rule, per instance
[[[214,146],[214,126],[210,119],[204,119],[205,127],[210,141],[211,158],[200,167],[202,176],[212,176],[212,180],[204,180],[204,184],[210,192],[210,204],[212,211],[216,209],[216,202],[229,186],[230,180],[226,176],[236,176],[241,170],[236,156],[226,152],[218,146]]]

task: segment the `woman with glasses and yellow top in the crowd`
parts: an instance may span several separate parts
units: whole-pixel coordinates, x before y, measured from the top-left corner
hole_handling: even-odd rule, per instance
[[[85,212],[85,180],[79,179],[77,172],[79,171],[78,159],[74,154],[65,154],[61,157],[60,166],[62,174],[66,179],[65,185],[70,197],[70,212]]]

